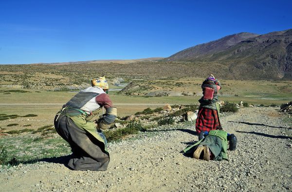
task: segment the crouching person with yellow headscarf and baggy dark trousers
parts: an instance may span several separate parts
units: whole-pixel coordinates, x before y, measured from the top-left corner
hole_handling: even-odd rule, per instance
[[[56,132],[71,146],[68,166],[73,170],[106,171],[108,168],[110,154],[102,130],[109,128],[117,116],[108,90],[105,77],[92,79],[91,87],[74,95],[55,116]],[[93,121],[102,107],[106,113]]]

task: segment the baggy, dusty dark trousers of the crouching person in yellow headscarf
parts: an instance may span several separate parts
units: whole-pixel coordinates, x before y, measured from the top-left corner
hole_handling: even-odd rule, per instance
[[[104,143],[80,129],[70,117],[55,116],[56,132],[66,140],[72,150],[68,166],[73,170],[106,171],[110,162]]]

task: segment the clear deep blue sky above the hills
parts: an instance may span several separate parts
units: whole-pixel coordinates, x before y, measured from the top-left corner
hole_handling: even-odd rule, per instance
[[[1,0],[0,64],[167,57],[292,28],[292,0]]]

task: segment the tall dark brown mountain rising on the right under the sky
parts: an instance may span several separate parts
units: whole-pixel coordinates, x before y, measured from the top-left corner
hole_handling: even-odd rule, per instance
[[[292,80],[292,29],[264,35],[228,35],[163,61],[217,61],[227,66],[235,78]]]

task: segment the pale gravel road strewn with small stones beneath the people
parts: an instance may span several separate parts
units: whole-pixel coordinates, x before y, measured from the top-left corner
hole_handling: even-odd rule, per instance
[[[241,108],[221,117],[238,140],[229,161],[183,156],[198,140],[194,124],[186,123],[110,143],[105,172],[71,171],[60,158],[0,167],[0,191],[292,191],[292,128],[276,109]]]

